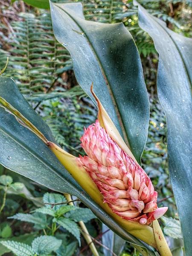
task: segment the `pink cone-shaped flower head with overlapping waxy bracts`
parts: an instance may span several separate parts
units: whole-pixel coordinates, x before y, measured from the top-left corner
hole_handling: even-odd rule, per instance
[[[157,208],[157,192],[145,171],[107,134],[99,121],[85,129],[79,163],[102,193],[104,203],[122,218],[150,224],[167,207]]]

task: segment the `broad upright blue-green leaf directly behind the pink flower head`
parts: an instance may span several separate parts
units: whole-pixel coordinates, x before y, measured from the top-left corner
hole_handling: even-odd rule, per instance
[[[149,103],[137,47],[122,23],[84,20],[81,3],[50,2],[55,38],[69,50],[76,79],[93,88],[140,162],[148,133]]]

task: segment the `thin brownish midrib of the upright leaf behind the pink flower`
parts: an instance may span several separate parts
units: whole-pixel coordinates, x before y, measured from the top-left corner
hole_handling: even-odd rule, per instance
[[[112,102],[113,102],[113,107],[114,107],[114,110],[115,110],[115,112],[116,112],[116,116],[117,116],[117,119],[119,120],[119,125],[120,125],[121,130],[122,130],[123,138],[124,138],[125,143],[126,143],[126,145],[128,146],[128,148],[130,148],[130,144],[129,144],[129,140],[128,140],[128,134],[127,134],[127,132],[126,132],[125,125],[124,125],[124,122],[123,122],[121,113],[119,112],[119,109],[116,107],[118,104],[117,104],[117,102],[116,102],[116,100],[115,100],[115,97],[114,97],[114,95],[113,95],[113,91],[111,90],[111,86],[110,86],[110,83],[109,83],[108,78],[107,78],[107,75],[106,75],[106,73],[105,73],[105,70],[104,70],[104,68],[103,68],[103,66],[102,66],[101,61],[99,60],[99,56],[97,55],[96,50],[95,50],[95,48],[93,47],[93,44],[91,43],[91,41],[90,41],[88,35],[86,34],[86,32],[82,29],[81,25],[80,25],[79,23],[77,23],[77,21],[76,21],[70,14],[69,14],[67,11],[65,11],[64,9],[62,9],[60,6],[58,6],[57,4],[55,4],[55,6],[57,6],[59,9],[61,9],[61,11],[65,12],[65,13],[74,21],[74,23],[76,23],[76,25],[79,27],[79,29],[81,29],[81,31],[82,31],[82,32],[84,33],[84,35],[86,36],[87,41],[88,41],[88,43],[89,43],[89,46],[90,46],[90,48],[92,49],[92,51],[93,51],[93,53],[94,53],[94,55],[95,55],[95,57],[96,57],[96,60],[97,60],[97,62],[98,62],[98,64],[99,64],[99,67],[100,67],[100,69],[101,69],[101,71],[102,71],[102,74],[104,75],[104,80],[107,81],[107,83],[105,82],[105,84],[106,84],[106,86],[107,86],[107,88],[108,88],[108,91],[109,91],[109,94],[110,94],[110,96],[111,96],[111,100],[112,100]],[[119,117],[119,118],[118,118],[118,117]]]

